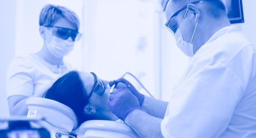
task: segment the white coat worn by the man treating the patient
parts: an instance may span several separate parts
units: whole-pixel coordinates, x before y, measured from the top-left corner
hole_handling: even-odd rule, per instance
[[[192,57],[161,130],[166,138],[256,138],[256,48],[241,26],[222,28]]]

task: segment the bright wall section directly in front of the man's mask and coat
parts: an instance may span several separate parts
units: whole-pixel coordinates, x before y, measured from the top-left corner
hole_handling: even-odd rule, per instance
[[[163,24],[166,19],[163,13]],[[174,36],[162,26],[162,100],[169,101],[175,84],[185,71],[189,57],[177,47]]]

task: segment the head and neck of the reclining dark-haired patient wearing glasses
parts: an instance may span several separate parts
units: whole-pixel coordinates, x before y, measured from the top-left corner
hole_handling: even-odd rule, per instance
[[[70,71],[62,76],[43,95],[70,107],[78,126],[88,120],[119,119],[109,109],[110,88],[94,73]]]

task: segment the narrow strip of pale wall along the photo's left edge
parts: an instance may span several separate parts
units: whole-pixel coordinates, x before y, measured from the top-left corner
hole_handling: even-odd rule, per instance
[[[6,70],[15,53],[15,0],[0,1],[0,118],[9,117],[6,99]]]

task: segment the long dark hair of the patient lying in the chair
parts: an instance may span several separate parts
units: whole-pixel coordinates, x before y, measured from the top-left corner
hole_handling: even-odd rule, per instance
[[[83,111],[88,104],[88,95],[77,71],[62,76],[43,95],[44,98],[58,101],[70,107],[78,119],[78,125],[91,120]]]

